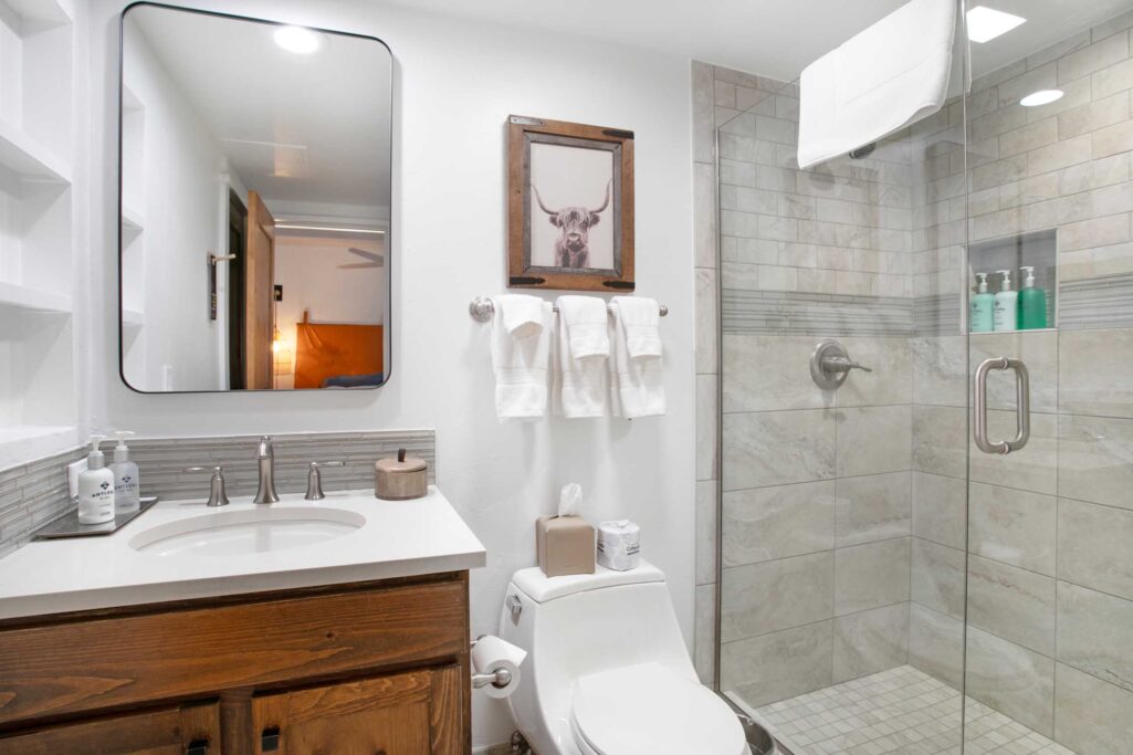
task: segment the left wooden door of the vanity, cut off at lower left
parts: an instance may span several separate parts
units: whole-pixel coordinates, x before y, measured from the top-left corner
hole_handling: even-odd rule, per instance
[[[0,738],[3,755],[221,755],[215,704],[77,721]]]

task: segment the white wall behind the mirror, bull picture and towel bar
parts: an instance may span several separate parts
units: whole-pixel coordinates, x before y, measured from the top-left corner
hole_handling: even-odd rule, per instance
[[[95,0],[93,239],[100,263],[90,319],[95,426],[208,434],[435,427],[437,478],[488,550],[472,574],[472,631],[493,631],[509,575],[534,562],[533,523],[559,487],[587,490],[591,520],[642,525],[646,558],[668,575],[692,637],[693,358],[689,63],[519,28],[475,26],[373,0],[213,3],[296,24],[373,34],[393,50],[393,366],[377,391],[142,396],[118,380],[114,343],[114,84],[117,14]],[[208,7],[202,5],[202,7]],[[664,322],[668,415],[501,425],[488,328],[468,302],[505,280],[504,120],[509,113],[631,128],[637,134],[638,291],[670,305]],[[252,453],[253,449],[249,449]],[[503,705],[475,695],[474,741],[503,741]]]

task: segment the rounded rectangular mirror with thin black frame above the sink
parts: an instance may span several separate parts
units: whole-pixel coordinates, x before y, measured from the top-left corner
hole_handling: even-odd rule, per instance
[[[156,3],[121,19],[121,375],[142,392],[390,373],[392,57]]]

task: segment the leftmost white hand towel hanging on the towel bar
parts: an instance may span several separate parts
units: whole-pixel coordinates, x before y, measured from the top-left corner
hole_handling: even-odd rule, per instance
[[[533,298],[539,303],[539,321],[528,323],[516,337],[508,330],[505,316],[512,298]],[[547,367],[551,357],[553,314],[551,303],[536,297],[493,297],[492,366],[496,376],[496,416],[504,419],[538,419],[547,412]],[[526,303],[523,309],[527,309]],[[537,328],[534,328],[537,325]]]

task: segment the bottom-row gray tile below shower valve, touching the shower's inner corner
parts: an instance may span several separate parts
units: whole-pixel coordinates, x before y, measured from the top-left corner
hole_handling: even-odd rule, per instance
[[[834,684],[909,660],[909,603],[834,619]]]

